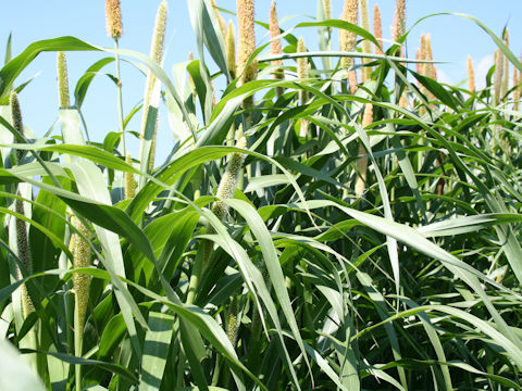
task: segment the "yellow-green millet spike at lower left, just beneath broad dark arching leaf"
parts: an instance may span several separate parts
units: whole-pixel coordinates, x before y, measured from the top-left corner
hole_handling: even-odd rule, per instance
[[[86,238],[89,238],[89,230],[75,215],[71,217],[71,224],[78,230],[79,234]],[[74,232],[71,236],[69,248],[73,254],[73,268],[77,269],[90,266],[90,245],[84,238],[82,238],[82,236]],[[89,302],[90,276],[75,273],[73,275],[73,289],[76,295],[76,311],[78,314],[77,327],[79,327],[79,335],[82,335],[87,314],[87,304]]]

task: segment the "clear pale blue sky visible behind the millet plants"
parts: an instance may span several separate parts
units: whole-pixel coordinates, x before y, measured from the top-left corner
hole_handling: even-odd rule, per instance
[[[190,0],[188,0],[189,2]],[[235,0],[216,0],[217,5],[235,11]],[[156,11],[160,0],[122,0],[124,35],[120,41],[121,48],[132,49],[142,53],[149,52],[151,31]],[[268,22],[270,0],[257,0],[256,17]],[[393,21],[395,1],[369,0],[370,9],[375,3],[381,7],[383,15],[384,38],[390,37],[389,26]],[[294,16],[282,24],[287,29],[298,22],[310,21],[316,13],[316,0],[279,0],[277,12],[279,20]],[[338,17],[341,12],[343,0],[332,0],[333,16]],[[507,24],[510,29],[511,49],[518,54],[522,49],[522,1],[520,0],[437,0],[407,1],[407,27],[413,25],[422,16],[438,12],[460,12],[471,14],[497,35],[500,35]],[[232,15],[224,14],[225,18]],[[18,54],[29,43],[48,38],[71,35],[99,46],[112,47],[112,40],[105,33],[104,1],[4,1],[2,4],[2,23],[0,24],[0,55],[3,56],[3,47],[9,34],[13,34],[13,55]],[[432,45],[435,60],[448,61],[449,64],[438,65],[437,71],[443,81],[457,83],[465,77],[465,59],[473,58],[477,78],[493,61],[495,45],[492,39],[474,23],[456,16],[435,16],[421,22],[410,35],[408,51],[413,56],[419,45],[419,37],[423,33],[432,35]],[[316,49],[316,31],[314,28],[299,29],[295,35],[304,37],[309,49]],[[258,27],[258,43],[266,42],[264,29]],[[187,60],[188,52],[197,52],[196,42],[188,17],[187,1],[169,0],[169,22],[166,35],[166,51],[164,68],[171,74],[172,65]],[[105,54],[107,55],[107,54]],[[94,62],[104,56],[95,52],[67,53],[70,66],[71,89],[77,79]],[[113,64],[103,70],[114,73]],[[129,64],[122,65],[124,105],[128,112],[142,97],[145,77]],[[24,123],[37,136],[42,136],[57,117],[58,92],[55,87],[55,54],[40,54],[18,77],[16,85],[25,81],[35,74],[35,80],[21,93],[21,104]],[[477,80],[477,84],[481,84]],[[115,106],[115,88],[113,83],[103,76],[95,78],[84,103],[91,138],[102,141],[108,131],[117,129],[117,114]],[[162,110],[162,109],[160,109]],[[164,112],[164,109],[163,109]],[[140,118],[140,115],[138,115]],[[130,129],[139,130],[139,121],[130,124]],[[172,136],[164,115],[161,116],[159,161],[164,159],[172,147]],[[127,138],[133,155],[137,156],[137,141]]]

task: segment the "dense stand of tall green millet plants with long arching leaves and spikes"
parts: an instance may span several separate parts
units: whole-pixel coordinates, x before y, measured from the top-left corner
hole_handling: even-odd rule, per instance
[[[25,361],[0,350],[2,387],[522,389],[522,64],[506,35],[460,15],[497,62],[483,89],[471,61],[468,89],[443,85],[430,38],[419,60],[403,55],[403,1],[391,40],[380,21],[368,30],[361,4],[332,20],[320,0],[318,22],[282,31],[275,4],[254,14],[238,0],[235,35],[219,2],[190,0],[195,52],[210,54],[176,64],[190,89],[154,43],[151,56],[120,49],[121,31],[115,49],[61,37],[8,58],[4,103],[41,51],[102,50],[149,74],[138,156],[83,136],[80,103],[111,61],[72,80],[71,105],[59,54],[52,137],[0,106],[0,333]],[[270,20],[268,54],[253,15]],[[294,35],[303,28],[320,52]],[[150,157],[159,110],[181,138],[162,164]],[[5,362],[38,377],[10,377]]]

